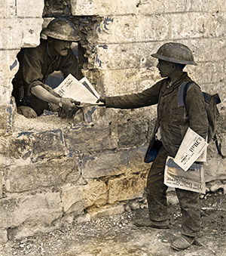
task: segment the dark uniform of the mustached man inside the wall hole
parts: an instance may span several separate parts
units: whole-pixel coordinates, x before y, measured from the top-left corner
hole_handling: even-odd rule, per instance
[[[13,80],[14,91],[17,106],[25,105],[35,109],[38,116],[44,109],[49,109],[48,103],[31,94],[31,88],[41,85],[43,88],[54,92],[50,87],[44,85],[45,79],[53,71],[62,71],[66,77],[71,73],[77,79],[82,78],[81,67],[78,65],[78,59],[70,50],[65,57],[56,55],[51,56],[48,49],[47,40],[41,40],[41,44],[36,48],[26,48],[18,54],[20,68]]]

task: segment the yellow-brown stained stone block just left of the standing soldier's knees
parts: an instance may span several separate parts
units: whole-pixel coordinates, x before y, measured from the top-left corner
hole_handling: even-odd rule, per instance
[[[108,180],[108,203],[141,198],[146,184],[143,176],[145,175],[134,174]]]

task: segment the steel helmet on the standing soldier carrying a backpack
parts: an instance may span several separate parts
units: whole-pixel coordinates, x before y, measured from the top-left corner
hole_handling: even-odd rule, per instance
[[[191,50],[186,45],[176,42],[169,42],[162,45],[157,50],[157,53],[151,54],[151,56],[173,63],[197,65],[197,63],[194,62],[194,57]]]

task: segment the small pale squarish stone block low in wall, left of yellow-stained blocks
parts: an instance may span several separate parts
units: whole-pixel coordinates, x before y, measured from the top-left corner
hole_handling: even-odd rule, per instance
[[[84,211],[84,198],[82,186],[67,184],[61,188],[61,200],[63,211],[67,214],[74,213],[79,215]]]

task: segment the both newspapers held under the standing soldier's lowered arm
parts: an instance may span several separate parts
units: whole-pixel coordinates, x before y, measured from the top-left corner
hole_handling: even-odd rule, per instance
[[[208,143],[188,128],[175,158],[166,159],[164,184],[197,193],[205,193],[203,164],[206,162]]]

